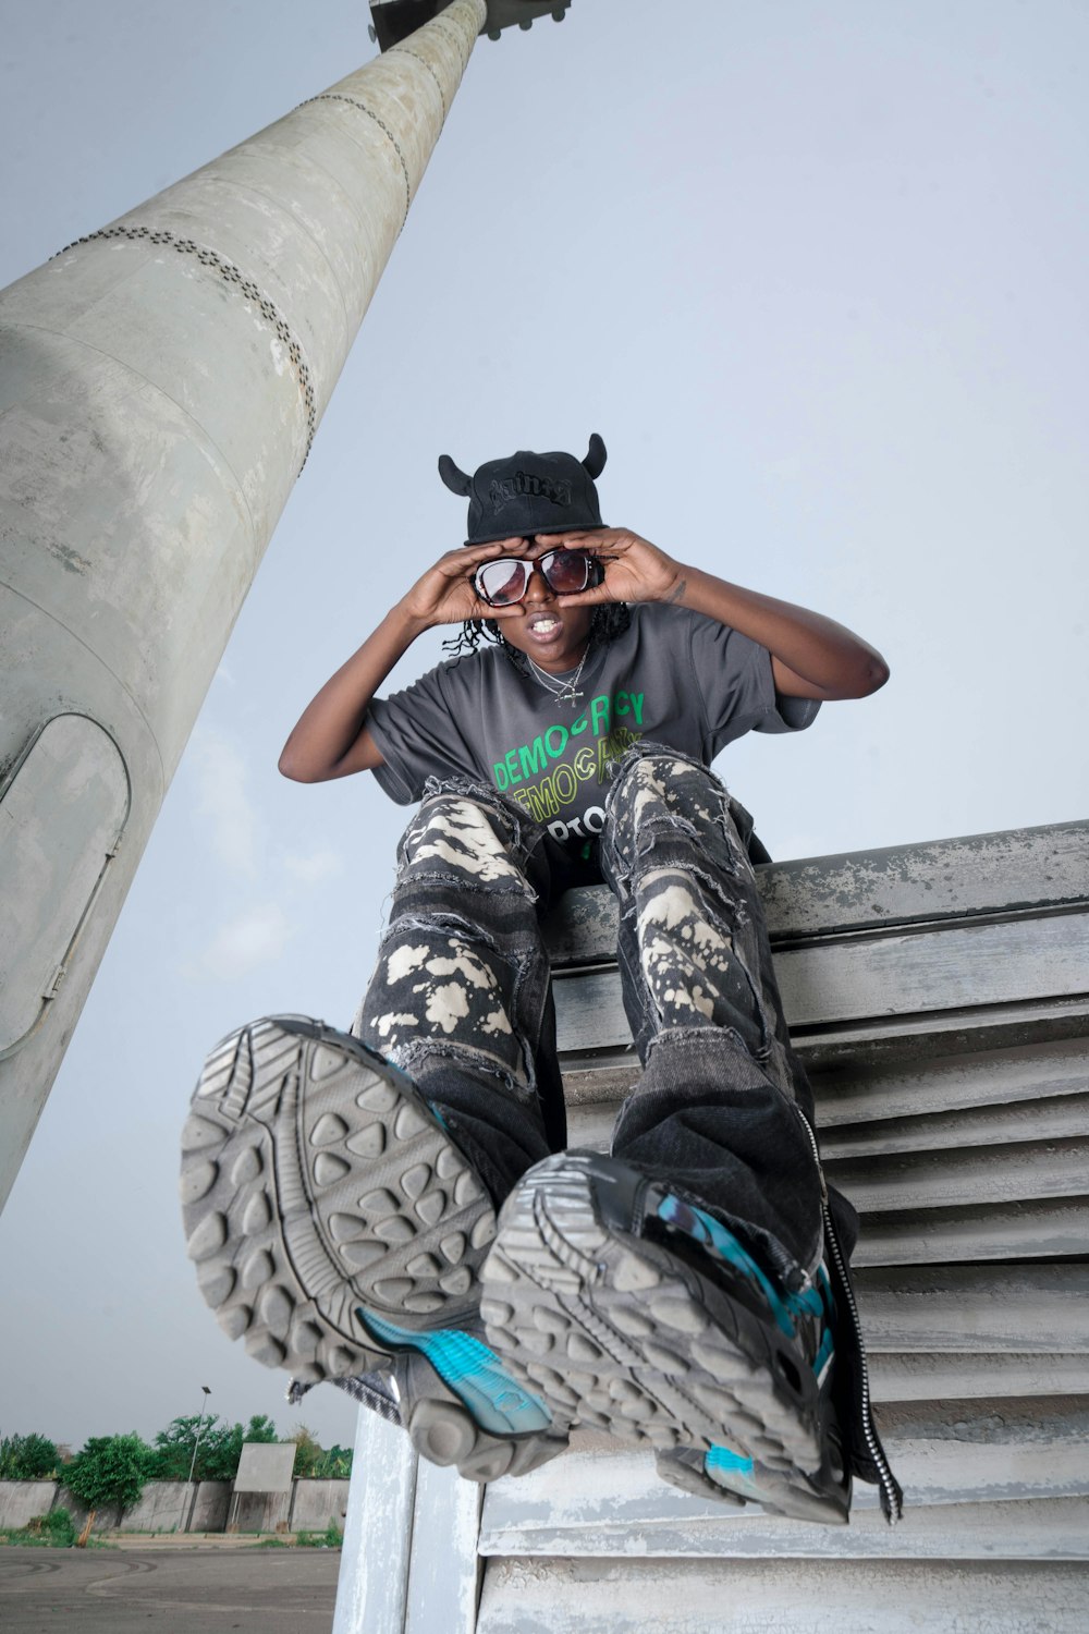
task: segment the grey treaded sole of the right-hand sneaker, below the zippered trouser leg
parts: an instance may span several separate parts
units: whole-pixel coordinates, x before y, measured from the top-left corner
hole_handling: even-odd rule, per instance
[[[537,1165],[508,1199],[480,1309],[496,1353],[576,1423],[660,1451],[728,1441],[769,1469],[820,1466],[811,1374],[807,1387],[745,1304],[606,1227],[578,1157]]]

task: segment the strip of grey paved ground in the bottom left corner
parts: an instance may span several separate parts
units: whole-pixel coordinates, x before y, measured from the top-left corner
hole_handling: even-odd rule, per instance
[[[0,1549],[3,1634],[328,1634],[338,1549]]]

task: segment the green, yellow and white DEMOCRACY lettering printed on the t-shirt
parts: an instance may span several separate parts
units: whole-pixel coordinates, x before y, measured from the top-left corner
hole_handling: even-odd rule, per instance
[[[642,725],[643,693],[599,693],[573,721],[508,748],[491,766],[495,786],[558,843],[588,840],[604,825],[612,766],[643,737]]]

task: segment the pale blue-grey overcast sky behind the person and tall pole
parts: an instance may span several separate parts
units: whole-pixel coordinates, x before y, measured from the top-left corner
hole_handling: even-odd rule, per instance
[[[11,7],[0,284],[343,78],[366,25]],[[573,0],[478,42],[0,1221],[0,1433],[150,1435],[202,1384],[297,1422],[198,1296],[178,1131],[219,1036],[346,1025],[366,984],[407,814],[276,757],[462,539],[439,453],[601,431],[607,521],[882,649],[875,698],[720,761],[772,856],[1089,815],[1087,36],[1065,0]],[[331,1389],[302,1417],[351,1438]]]

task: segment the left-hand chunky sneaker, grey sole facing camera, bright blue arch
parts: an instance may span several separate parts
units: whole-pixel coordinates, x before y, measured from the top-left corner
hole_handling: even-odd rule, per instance
[[[189,1258],[220,1327],[300,1384],[385,1373],[413,1444],[473,1480],[567,1431],[483,1343],[491,1201],[410,1078],[269,1016],[209,1056],[183,1132]]]

